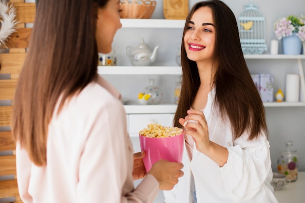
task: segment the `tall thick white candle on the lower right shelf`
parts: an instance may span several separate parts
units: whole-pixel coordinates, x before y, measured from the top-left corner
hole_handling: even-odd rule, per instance
[[[286,74],[286,102],[298,102],[300,95],[300,75]]]

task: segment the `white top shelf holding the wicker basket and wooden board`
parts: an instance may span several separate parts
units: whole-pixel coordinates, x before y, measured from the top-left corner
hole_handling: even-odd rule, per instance
[[[122,28],[184,28],[185,20],[121,18]]]

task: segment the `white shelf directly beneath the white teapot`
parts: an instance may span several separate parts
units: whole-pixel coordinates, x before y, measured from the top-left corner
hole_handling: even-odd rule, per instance
[[[98,74],[182,74],[180,66],[98,66]]]

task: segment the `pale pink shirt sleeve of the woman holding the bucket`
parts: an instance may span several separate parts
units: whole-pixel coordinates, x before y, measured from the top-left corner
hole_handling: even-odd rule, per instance
[[[158,182],[150,176],[134,189],[133,149],[128,145],[125,112],[118,102],[96,112],[79,161],[79,203],[146,203],[158,193]]]

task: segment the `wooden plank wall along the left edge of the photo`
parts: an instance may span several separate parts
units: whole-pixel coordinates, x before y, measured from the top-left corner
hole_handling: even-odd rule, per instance
[[[16,9],[16,32],[6,42],[9,53],[0,54],[0,74],[10,74],[11,79],[0,80],[0,102],[14,97],[17,78],[22,69],[26,48],[29,45],[32,28],[25,28],[25,23],[34,23],[36,15],[35,3],[25,3],[24,0],[9,0]],[[16,79],[12,79],[16,78]],[[13,105],[13,101],[11,102]],[[0,106],[0,127],[11,126],[12,106]],[[11,131],[0,131],[0,151],[13,151],[16,148]],[[14,203],[22,203],[19,197],[16,180],[16,156],[0,155],[0,176],[14,175],[15,180],[0,181],[0,199],[15,197]],[[0,200],[1,202],[1,200]]]

